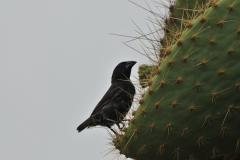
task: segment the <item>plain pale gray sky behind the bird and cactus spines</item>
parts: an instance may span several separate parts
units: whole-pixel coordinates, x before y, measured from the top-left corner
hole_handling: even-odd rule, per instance
[[[137,61],[135,76],[148,62],[109,34],[138,35],[131,18],[147,33],[148,16],[127,0],[1,0],[0,159],[113,159],[106,129],[76,127],[119,62]]]

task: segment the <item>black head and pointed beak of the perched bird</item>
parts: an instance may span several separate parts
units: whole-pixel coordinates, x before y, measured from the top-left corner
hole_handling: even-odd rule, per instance
[[[113,70],[112,82],[115,82],[117,80],[129,80],[131,69],[136,63],[137,62],[135,61],[125,61],[119,63]]]

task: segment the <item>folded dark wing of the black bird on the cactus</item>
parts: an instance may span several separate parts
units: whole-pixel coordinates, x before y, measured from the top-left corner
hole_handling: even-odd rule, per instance
[[[95,113],[97,113],[99,110],[101,110],[107,103],[114,100],[116,97],[118,97],[120,94],[122,94],[124,90],[120,88],[119,86],[112,84],[108,91],[105,93],[103,98],[100,102],[98,102],[97,106],[94,108],[91,116]]]

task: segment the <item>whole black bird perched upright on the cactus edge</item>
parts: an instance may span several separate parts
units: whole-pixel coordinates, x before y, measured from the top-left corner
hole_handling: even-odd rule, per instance
[[[126,61],[115,67],[112,74],[112,85],[94,108],[90,117],[77,127],[78,132],[97,125],[108,127],[115,134],[116,132],[111,128],[112,125],[116,124],[121,129],[119,124],[122,123],[129,111],[135,95],[135,87],[130,81],[130,74],[136,63],[135,61]]]

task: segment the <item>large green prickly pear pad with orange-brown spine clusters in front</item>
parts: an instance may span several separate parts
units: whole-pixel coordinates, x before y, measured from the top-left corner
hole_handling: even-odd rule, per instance
[[[137,160],[239,159],[240,0],[213,1],[182,31],[113,143]]]

